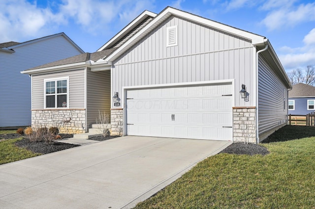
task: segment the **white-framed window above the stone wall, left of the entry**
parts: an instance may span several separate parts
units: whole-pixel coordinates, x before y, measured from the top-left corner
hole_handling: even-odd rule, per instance
[[[45,108],[68,107],[69,78],[50,78],[44,80]]]

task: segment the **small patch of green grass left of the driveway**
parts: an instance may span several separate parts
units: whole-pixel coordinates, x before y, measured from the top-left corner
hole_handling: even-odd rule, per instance
[[[27,149],[15,146],[14,143],[21,139],[22,137],[17,139],[8,139],[0,142],[0,164],[41,155],[39,153],[32,153]]]

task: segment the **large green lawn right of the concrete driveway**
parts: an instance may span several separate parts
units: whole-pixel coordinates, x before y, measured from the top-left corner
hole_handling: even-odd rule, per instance
[[[314,134],[286,126],[262,144],[269,155],[209,157],[136,208],[315,208]]]

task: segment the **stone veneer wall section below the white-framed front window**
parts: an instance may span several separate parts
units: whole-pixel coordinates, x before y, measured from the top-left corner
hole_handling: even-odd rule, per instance
[[[85,133],[85,117],[85,109],[32,110],[32,127],[59,127],[60,133]]]

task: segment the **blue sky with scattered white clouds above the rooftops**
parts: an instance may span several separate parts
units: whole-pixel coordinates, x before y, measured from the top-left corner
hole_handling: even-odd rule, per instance
[[[95,52],[144,10],[166,6],[265,36],[287,72],[315,64],[314,0],[0,0],[0,43],[64,32]]]

